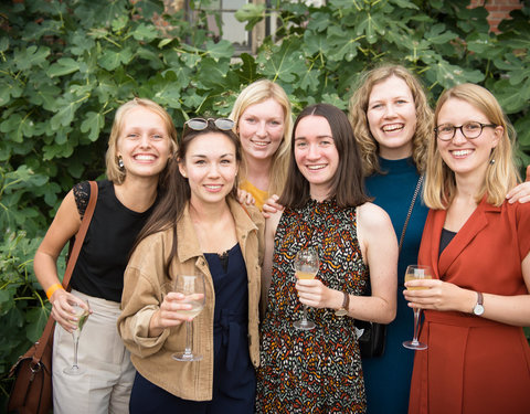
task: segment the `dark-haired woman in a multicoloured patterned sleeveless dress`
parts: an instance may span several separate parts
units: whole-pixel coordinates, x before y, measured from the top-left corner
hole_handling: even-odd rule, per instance
[[[296,119],[285,210],[266,223],[257,413],[364,413],[353,320],[395,315],[398,243],[386,213],[368,202],[353,132],[338,108],[317,104]],[[320,267],[295,279],[293,258],[312,246]],[[368,278],[372,296],[361,296]],[[309,307],[314,330],[294,321]],[[339,309],[344,316],[337,316]]]

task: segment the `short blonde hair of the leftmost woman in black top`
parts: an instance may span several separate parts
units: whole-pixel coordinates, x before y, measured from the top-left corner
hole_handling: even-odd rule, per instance
[[[125,180],[127,171],[118,167],[118,157],[116,156],[116,147],[118,144],[119,136],[124,130],[124,119],[125,116],[134,108],[144,107],[150,112],[157,114],[162,118],[163,125],[168,136],[170,137],[171,142],[171,153],[177,151],[177,129],[174,128],[173,120],[169,114],[157,103],[145,99],[145,98],[134,98],[124,105],[121,105],[118,110],[116,110],[116,116],[114,117],[113,128],[110,130],[110,137],[108,138],[108,148],[105,157],[105,162],[107,167],[107,178],[113,181],[115,184],[121,184]],[[160,174],[162,176],[162,174]]]

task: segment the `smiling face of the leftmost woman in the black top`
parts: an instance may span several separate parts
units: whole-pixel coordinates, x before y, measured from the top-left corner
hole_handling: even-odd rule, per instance
[[[116,157],[121,157],[132,177],[158,178],[171,156],[171,138],[163,119],[138,106],[124,115],[123,130],[116,144]]]

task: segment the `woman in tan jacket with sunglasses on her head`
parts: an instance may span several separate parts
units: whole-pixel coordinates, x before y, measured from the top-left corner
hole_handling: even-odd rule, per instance
[[[233,125],[186,124],[168,191],[125,273],[118,330],[137,369],[131,413],[254,412],[264,222],[235,199],[241,147]],[[187,275],[204,280],[194,319],[176,289]],[[182,322],[191,320],[188,331]],[[184,348],[202,359],[176,355]]]

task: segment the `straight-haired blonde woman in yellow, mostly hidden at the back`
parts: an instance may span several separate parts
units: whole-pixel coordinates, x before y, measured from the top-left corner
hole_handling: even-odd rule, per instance
[[[287,178],[293,128],[290,102],[278,84],[256,81],[246,86],[230,118],[243,147],[240,189],[262,210],[265,200],[280,194]]]

